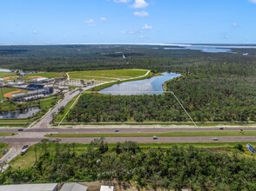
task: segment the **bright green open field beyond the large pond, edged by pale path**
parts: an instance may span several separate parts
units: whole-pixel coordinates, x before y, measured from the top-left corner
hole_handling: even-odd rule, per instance
[[[71,79],[84,79],[96,81],[117,81],[134,77],[144,76],[148,70],[145,69],[109,69],[69,72]]]

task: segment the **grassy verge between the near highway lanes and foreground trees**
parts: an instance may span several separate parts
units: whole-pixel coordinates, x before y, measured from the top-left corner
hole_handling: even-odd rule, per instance
[[[234,149],[233,147],[236,146],[238,143],[241,143],[244,147],[246,147],[246,143],[244,142],[194,142],[194,143],[138,143],[140,148],[146,149],[146,148],[170,148],[173,145],[178,145],[181,147],[188,147],[193,146],[196,148],[217,148],[218,150],[224,150],[226,151],[226,148],[228,148],[230,151]],[[256,142],[251,142],[253,146]],[[62,143],[63,147],[71,146],[71,144]],[[88,147],[89,144],[84,143],[76,143],[75,144],[75,152],[77,155],[82,155],[84,153],[84,150]],[[115,143],[108,143],[109,148],[115,148]],[[6,147],[6,146],[5,146]],[[13,161],[10,161],[11,168],[30,168],[34,165],[36,161],[36,155],[35,155],[35,147],[37,147],[37,158],[42,155],[43,149],[40,144],[30,146],[29,151],[25,155],[18,155]],[[1,148],[1,144],[0,144]],[[55,145],[53,143],[48,144],[48,150],[50,153],[55,151]],[[72,150],[72,148],[71,148]],[[245,148],[246,150],[246,148]],[[0,154],[1,155],[1,154]],[[250,153],[246,150],[244,155],[250,156]]]

